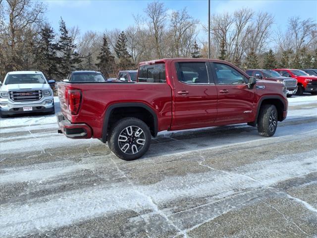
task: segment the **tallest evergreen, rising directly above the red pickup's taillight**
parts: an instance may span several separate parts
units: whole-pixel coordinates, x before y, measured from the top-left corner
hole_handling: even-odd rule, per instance
[[[69,36],[65,22],[62,18],[59,21],[60,37],[58,41],[59,57],[59,72],[62,77],[67,76],[70,71],[76,69],[76,66],[81,63],[80,56],[75,52],[76,44],[74,39]]]

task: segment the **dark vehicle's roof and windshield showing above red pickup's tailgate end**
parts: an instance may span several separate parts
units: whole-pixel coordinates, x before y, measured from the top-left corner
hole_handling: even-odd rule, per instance
[[[105,76],[98,71],[72,71],[68,74],[67,79],[64,82],[72,83],[104,83],[106,82]]]

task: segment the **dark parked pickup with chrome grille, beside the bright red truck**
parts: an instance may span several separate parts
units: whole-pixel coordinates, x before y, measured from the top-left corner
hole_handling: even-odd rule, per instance
[[[248,69],[246,73],[249,76],[254,76],[257,79],[272,80],[279,83],[284,83],[287,88],[287,97],[292,97],[297,92],[297,79],[283,77],[278,72],[270,69]]]

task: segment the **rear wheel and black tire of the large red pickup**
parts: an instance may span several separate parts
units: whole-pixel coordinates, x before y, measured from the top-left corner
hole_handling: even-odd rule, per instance
[[[141,129],[143,133],[138,128]],[[119,136],[121,138],[120,140]],[[142,145],[142,143],[144,144]],[[117,121],[110,129],[108,135],[109,149],[118,158],[126,161],[136,160],[142,157],[148,151],[150,144],[150,128],[144,121],[137,118],[124,118]]]

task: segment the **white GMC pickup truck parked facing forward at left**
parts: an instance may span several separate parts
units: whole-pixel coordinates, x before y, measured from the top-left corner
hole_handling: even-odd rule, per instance
[[[24,113],[54,114],[53,90],[39,71],[8,72],[0,86],[0,116]]]

